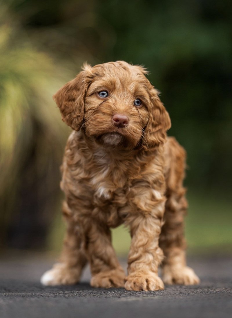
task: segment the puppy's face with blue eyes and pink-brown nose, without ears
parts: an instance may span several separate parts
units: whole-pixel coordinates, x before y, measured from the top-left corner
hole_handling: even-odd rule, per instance
[[[107,147],[135,148],[149,120],[142,69],[107,63],[95,68],[86,93],[85,133]]]

